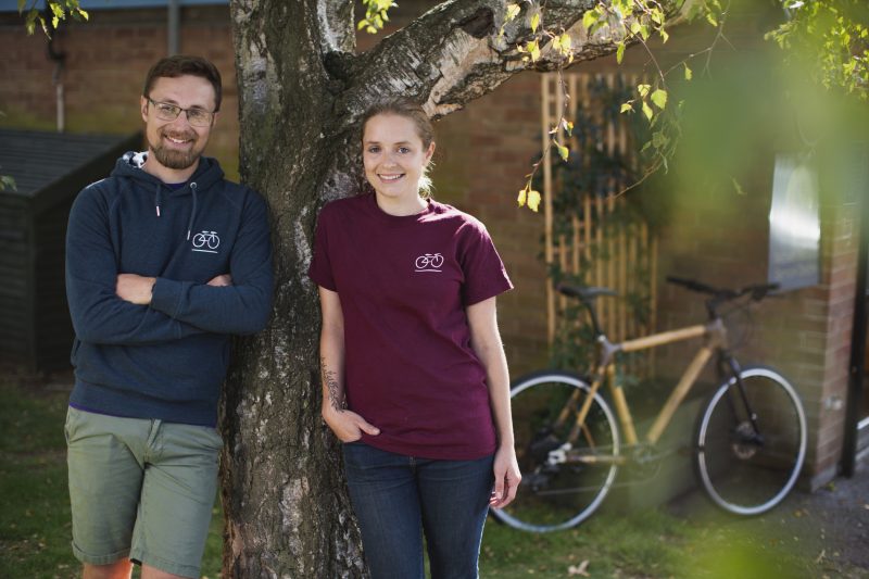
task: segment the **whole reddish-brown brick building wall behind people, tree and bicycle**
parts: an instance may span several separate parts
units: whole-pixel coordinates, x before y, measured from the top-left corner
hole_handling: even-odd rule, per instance
[[[393,25],[402,25],[431,3],[403,2]],[[739,47],[740,52],[734,53],[739,58],[746,56],[746,47],[761,42],[757,30],[770,27],[768,12],[750,16],[752,26],[735,27],[729,35]],[[140,127],[140,85],[147,68],[165,53],[165,12],[153,10],[92,11],[87,25],[70,26],[58,41],[58,48],[68,54],[64,84],[70,130],[127,133]],[[223,114],[210,154],[232,174],[237,167],[238,95],[228,9],[185,9],[180,38],[181,51],[212,59],[224,74]],[[379,38],[361,35],[361,49]],[[664,60],[677,59],[707,40],[703,32],[681,30],[663,51]],[[0,15],[0,48],[8,55],[0,60],[0,76],[15,79],[0,85],[0,110],[8,113],[0,117],[0,125],[52,127],[53,64],[45,56],[45,40],[26,37],[16,15]],[[754,56],[747,53],[748,59]],[[629,50],[625,68],[641,67],[643,62],[641,51]],[[581,70],[602,72],[614,66],[613,59],[601,59],[582,64]],[[698,66],[694,65],[695,75]],[[539,76],[516,76],[440,121],[436,129],[436,198],[487,225],[516,286],[500,300],[499,318],[512,373],[518,376],[544,365],[547,357],[545,269],[540,259],[543,218],[517,209],[515,202],[540,151]],[[729,182],[709,188],[684,177],[678,187],[638,198],[654,216],[662,239],[659,330],[695,324],[705,316],[702,299],[666,285],[663,278],[667,273],[722,286],[766,278],[773,149],[752,147],[745,152],[752,161],[748,174],[740,176],[745,194],[738,194]],[[840,458],[844,412],[836,402],[845,399],[847,385],[859,228],[854,200],[837,196],[835,188],[824,189],[824,193],[821,284],[767,300],[751,323],[735,316],[730,324],[738,340],[751,328],[736,352],[743,363],[774,365],[799,390],[809,420],[806,478],[813,487],[832,477]],[[662,352],[662,374],[681,372],[692,345],[695,343]]]

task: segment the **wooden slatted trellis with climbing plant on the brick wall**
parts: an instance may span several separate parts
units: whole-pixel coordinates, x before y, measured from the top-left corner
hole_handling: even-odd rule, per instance
[[[563,115],[576,124],[576,118],[572,117],[579,110],[585,118],[594,119],[595,125],[601,128],[594,138],[594,147],[610,155],[620,154],[629,164],[635,165],[635,147],[631,142],[626,115],[605,114],[604,106],[599,101],[601,87],[608,87],[612,95],[618,87],[635,86],[637,78],[627,78],[617,73],[563,74],[570,99],[570,105],[565,108],[565,95],[558,84],[558,74],[541,76],[541,134],[544,143],[552,139],[550,131]],[[570,137],[566,135],[564,127],[559,127],[557,137],[571,151],[577,150],[577,130]],[[626,223],[624,219],[613,218],[616,212],[624,211],[626,204],[630,203],[629,194],[619,194],[628,184],[608,178],[599,184],[595,190],[564,191],[562,179],[553,175],[553,165],[549,159],[551,154],[547,152],[547,158],[543,161],[546,264],[557,264],[562,272],[572,276],[582,275],[588,286],[604,286],[618,292],[620,298],[601,298],[596,304],[601,325],[610,340],[621,341],[652,332],[656,322],[657,239],[642,219]],[[589,167],[589,171],[593,169],[594,167]],[[578,197],[579,209],[569,216],[559,217],[570,219],[568,232],[563,232],[564,227],[559,228],[561,231],[554,228],[556,216],[553,214],[553,199],[556,194]],[[558,314],[565,310],[567,298],[554,291],[552,279],[547,282],[546,292],[549,339],[552,343],[561,319]],[[633,315],[625,299],[628,294],[647,297],[648,315],[643,323],[639,323]],[[652,351],[645,354],[645,360],[631,363],[632,367],[628,368],[630,373],[647,376],[654,372]]]

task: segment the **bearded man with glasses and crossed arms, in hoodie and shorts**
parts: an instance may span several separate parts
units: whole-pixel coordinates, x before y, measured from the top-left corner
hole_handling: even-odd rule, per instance
[[[267,209],[202,156],[221,108],[209,61],[172,56],[141,97],[148,151],[83,190],[66,238],[76,331],[66,439],[84,576],[199,577],[230,335],[272,311]]]

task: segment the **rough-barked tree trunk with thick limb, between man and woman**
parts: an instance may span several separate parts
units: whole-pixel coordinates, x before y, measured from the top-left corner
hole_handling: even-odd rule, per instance
[[[550,0],[570,28],[596,0]],[[320,418],[319,310],[307,279],[319,206],[360,185],[357,119],[375,100],[408,96],[442,116],[531,66],[505,1],[453,0],[355,54],[350,0],[234,0],[245,184],[270,206],[276,293],[269,327],[238,340],[224,398],[226,577],[365,575],[335,437]],[[617,38],[575,27],[577,60]],[[552,68],[557,54],[534,63]],[[520,184],[517,184],[517,188]]]

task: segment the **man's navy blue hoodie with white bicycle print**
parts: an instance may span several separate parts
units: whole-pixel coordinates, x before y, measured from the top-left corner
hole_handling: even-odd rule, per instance
[[[66,293],[75,327],[70,404],[91,412],[215,425],[230,335],[272,312],[266,204],[201,158],[172,190],[122,156],[70,213]],[[115,294],[118,274],[155,277],[150,305]],[[229,287],[207,286],[230,274]]]

